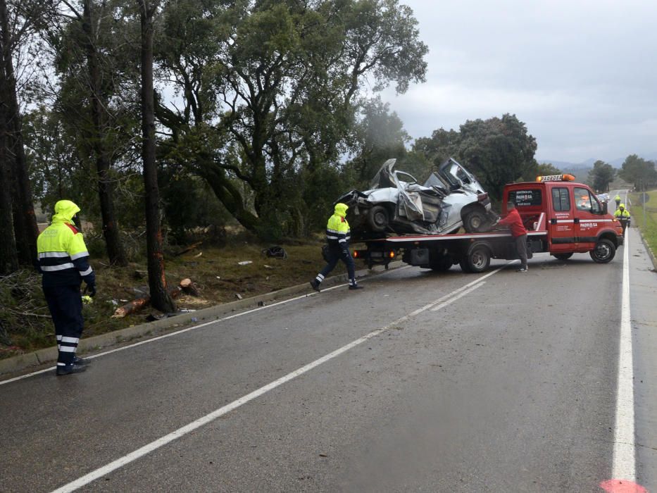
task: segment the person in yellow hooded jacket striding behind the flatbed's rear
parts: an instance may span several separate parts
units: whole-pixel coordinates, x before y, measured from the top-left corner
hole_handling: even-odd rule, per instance
[[[326,225],[326,239],[328,242],[328,258],[326,266],[321,272],[311,280],[311,286],[319,292],[320,284],[327,275],[335,268],[337,261],[342,260],[346,265],[349,274],[349,289],[363,289],[356,282],[356,268],[353,266],[353,258],[349,251],[349,239],[351,239],[351,230],[346,220],[346,210],[349,208],[346,204],[335,204],[333,216],[331,216]]]

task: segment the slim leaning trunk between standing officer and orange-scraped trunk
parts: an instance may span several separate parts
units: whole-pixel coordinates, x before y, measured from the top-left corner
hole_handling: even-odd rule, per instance
[[[91,100],[93,142],[96,153],[96,176],[98,179],[98,194],[103,220],[103,235],[110,263],[117,266],[127,266],[127,258],[121,244],[116,216],[114,212],[113,185],[109,177],[111,161],[105,144],[104,113],[107,101],[101,101],[101,72],[98,52],[96,51],[94,19],[92,18],[92,0],[85,0],[82,29],[87,40],[87,69],[89,71],[89,96]]]

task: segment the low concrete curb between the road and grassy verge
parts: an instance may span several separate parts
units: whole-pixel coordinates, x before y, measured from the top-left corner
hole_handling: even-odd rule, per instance
[[[394,269],[401,266],[403,266],[401,261],[394,261],[390,263],[389,268]],[[384,268],[382,266],[375,266],[373,270],[356,270],[356,277],[361,278],[367,277],[368,275],[375,275],[381,273],[383,270]],[[325,288],[339,285],[347,280],[348,277],[346,274],[327,277],[322,283],[322,287]],[[78,354],[99,352],[100,349],[130,344],[135,342],[136,339],[141,339],[142,337],[156,337],[158,335],[163,335],[166,332],[175,332],[175,330],[221,318],[221,316],[224,316],[227,313],[244,310],[246,308],[257,308],[268,302],[293,298],[302,293],[313,293],[307,282],[303,285],[286,287],[284,289],[279,289],[278,291],[260,294],[252,298],[232,301],[230,303],[211,306],[210,308],[204,308],[189,313],[181,313],[177,316],[162,318],[161,320],[155,320],[154,322],[141,325],[134,325],[134,327],[107,332],[106,334],[96,335],[87,339],[85,339],[83,335],[83,338],[80,339],[80,344],[77,347]],[[39,351],[33,353],[20,354],[18,356],[12,356],[11,358],[1,359],[0,375],[6,373],[19,373],[27,368],[42,366],[46,363],[53,363],[54,361],[57,361],[56,347],[39,349]]]

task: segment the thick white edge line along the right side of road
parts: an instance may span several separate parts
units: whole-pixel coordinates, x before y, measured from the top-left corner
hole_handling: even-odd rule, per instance
[[[629,239],[630,234],[628,231],[625,245],[622,247],[622,314],[620,317],[612,478],[634,482],[636,479],[634,463],[634,370],[632,367],[632,323],[630,318]]]

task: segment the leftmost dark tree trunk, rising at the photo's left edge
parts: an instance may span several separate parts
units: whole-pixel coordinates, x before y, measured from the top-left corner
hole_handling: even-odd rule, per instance
[[[16,95],[16,80],[13,72],[13,46],[11,32],[8,26],[6,0],[0,0],[0,36],[1,36],[1,70],[3,70],[4,87],[2,99],[4,120],[6,123],[5,158],[11,169],[13,183],[13,225],[16,242],[20,245],[17,251],[18,261],[24,265],[35,265],[37,262],[37,237],[39,228],[35,217],[35,207],[32,203],[32,188],[27,176],[27,160],[23,148],[23,129]]]

